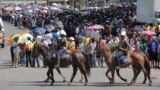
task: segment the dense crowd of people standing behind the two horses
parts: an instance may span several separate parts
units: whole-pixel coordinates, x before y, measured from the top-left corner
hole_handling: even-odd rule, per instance
[[[18,65],[18,56],[20,56],[19,64],[28,67],[40,67],[39,59],[32,49],[33,43],[43,44],[55,48],[57,43],[65,42],[65,49],[80,48],[86,52],[90,58],[91,67],[103,67],[104,58],[101,54],[96,55],[96,39],[95,37],[83,36],[81,33],[88,26],[99,24],[104,26],[103,30],[99,30],[101,37],[106,44],[111,47],[118,47],[121,43],[121,35],[125,35],[127,42],[134,48],[135,51],[142,51],[150,58],[151,67],[159,68],[160,61],[160,25],[145,24],[138,26],[142,30],[151,30],[156,35],[144,35],[140,30],[135,30],[136,22],[136,6],[122,5],[110,6],[109,8],[96,10],[63,10],[61,12],[43,13],[37,11],[32,15],[23,13],[4,11],[2,14],[3,20],[13,23],[15,26],[27,28],[35,37],[35,40],[28,38],[25,44],[19,44],[14,41],[11,46],[12,61],[15,61],[13,67]],[[52,28],[48,28],[53,26]],[[45,29],[45,32],[36,32],[37,29]],[[121,32],[126,32],[121,34]],[[77,41],[78,38],[78,41]],[[26,50],[29,46],[29,50]],[[29,63],[29,64],[28,64]],[[46,63],[43,63],[46,67]]]

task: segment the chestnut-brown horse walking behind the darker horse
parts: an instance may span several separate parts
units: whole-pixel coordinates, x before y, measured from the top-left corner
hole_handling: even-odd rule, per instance
[[[102,52],[102,55],[105,58],[105,63],[108,66],[108,69],[106,71],[106,76],[110,80],[110,83],[113,84],[114,83],[114,74],[115,74],[115,65],[114,65],[114,60],[113,60],[114,55],[111,52],[110,47],[101,40],[97,40],[97,47]],[[134,77],[131,80],[131,82],[129,83],[129,85],[132,85],[133,83],[135,83],[139,73],[141,71],[143,71],[144,75],[147,76],[147,78],[149,80],[149,85],[151,86],[152,81],[151,81],[151,77],[150,77],[150,63],[149,63],[148,57],[142,52],[128,52],[128,56],[129,56],[128,63],[127,64],[121,64],[120,67],[121,68],[126,68],[129,65],[132,65]],[[108,76],[109,72],[111,72],[112,77]],[[117,72],[118,72],[117,73],[118,76],[123,81],[127,81],[126,79],[123,79],[119,75],[119,71],[117,71]],[[145,83],[145,81],[146,81],[146,79],[144,80],[143,83]]]

